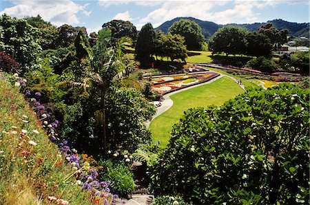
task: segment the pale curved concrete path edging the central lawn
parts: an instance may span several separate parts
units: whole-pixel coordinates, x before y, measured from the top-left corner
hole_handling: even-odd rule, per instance
[[[212,72],[214,72],[214,71],[212,71]],[[218,73],[218,74],[220,74],[220,73]],[[236,78],[233,78],[233,77],[231,77],[231,76],[227,76],[227,75],[225,75],[225,74],[220,74],[220,76],[218,76],[218,77],[216,77],[216,78],[214,78],[214,79],[212,79],[212,80],[209,80],[209,81],[207,81],[207,82],[205,82],[205,83],[200,83],[200,84],[198,84],[198,85],[193,85],[193,86],[190,86],[190,87],[185,87],[184,89],[179,89],[179,90],[173,91],[173,92],[171,92],[171,93],[169,93],[169,94],[165,94],[165,95],[162,97],[163,100],[161,100],[161,107],[157,107],[157,108],[156,108],[156,114],[152,117],[151,120],[147,120],[147,121],[145,122],[145,126],[146,126],[147,128],[149,128],[149,124],[151,124],[151,122],[152,122],[152,120],[154,120],[154,118],[156,118],[157,116],[160,116],[160,115],[163,114],[165,111],[167,111],[170,107],[172,107],[172,105],[174,105],[174,101],[172,101],[172,99],[170,98],[170,96],[172,96],[173,94],[177,94],[177,93],[180,92],[180,91],[185,91],[185,90],[187,90],[187,89],[192,89],[192,88],[194,88],[194,87],[198,87],[198,86],[201,86],[201,85],[207,85],[207,84],[209,84],[209,83],[213,83],[214,81],[216,81],[216,80],[222,78],[223,76],[226,76],[226,77],[228,77],[228,78],[231,78],[231,80],[234,80],[236,83],[238,82],[238,80],[236,80]],[[238,85],[239,85],[239,84],[238,84]],[[245,85],[239,85],[239,86],[240,86],[242,89],[245,89]]]

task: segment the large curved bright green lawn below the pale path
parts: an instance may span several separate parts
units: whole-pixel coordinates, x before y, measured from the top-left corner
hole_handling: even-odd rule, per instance
[[[153,140],[161,142],[161,147],[166,147],[172,126],[178,122],[185,110],[192,107],[207,107],[208,105],[220,106],[223,102],[243,92],[244,90],[234,80],[223,77],[214,83],[194,87],[170,96],[174,105],[161,116],[152,120],[149,126]]]

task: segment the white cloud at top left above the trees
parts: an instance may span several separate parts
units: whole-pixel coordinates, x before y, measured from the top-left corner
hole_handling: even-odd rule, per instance
[[[52,24],[60,26],[64,23],[70,25],[79,24],[78,12],[89,16],[90,11],[86,10],[88,3],[79,5],[71,0],[44,1],[44,0],[11,0],[15,6],[6,8],[0,14],[6,13],[12,17],[23,18],[37,16],[38,14]]]

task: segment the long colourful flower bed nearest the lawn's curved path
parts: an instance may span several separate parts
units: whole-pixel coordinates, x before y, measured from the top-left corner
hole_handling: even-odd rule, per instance
[[[217,76],[219,76],[219,74],[215,72],[208,72],[204,74],[189,74],[187,78],[180,78],[181,80],[174,80],[169,82],[163,81],[163,83],[157,83],[156,85],[152,86],[152,90],[157,91],[159,94],[163,95],[178,89],[183,89],[185,87],[207,82],[208,80],[216,78]]]

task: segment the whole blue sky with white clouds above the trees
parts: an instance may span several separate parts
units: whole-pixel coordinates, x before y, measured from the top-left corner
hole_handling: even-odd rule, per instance
[[[53,25],[85,26],[97,32],[113,19],[145,23],[154,28],[176,17],[194,17],[218,24],[267,22],[273,19],[309,22],[309,1],[304,0],[0,0],[0,14],[23,18],[38,14]]]

